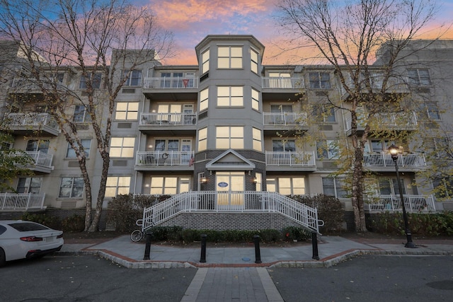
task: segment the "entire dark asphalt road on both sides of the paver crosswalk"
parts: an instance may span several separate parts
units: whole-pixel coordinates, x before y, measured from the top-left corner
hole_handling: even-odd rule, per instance
[[[0,301],[180,301],[197,269],[126,269],[50,256],[0,269]],[[268,269],[286,302],[452,301],[452,256],[370,256],[330,268]],[[222,286],[222,285],[220,285]]]

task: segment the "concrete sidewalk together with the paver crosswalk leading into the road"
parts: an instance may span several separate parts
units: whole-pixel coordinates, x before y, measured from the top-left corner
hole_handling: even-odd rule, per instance
[[[360,240],[358,240],[360,241]],[[181,302],[272,301],[283,302],[266,267],[331,267],[358,254],[453,255],[453,240],[415,243],[405,248],[403,240],[357,242],[340,236],[323,236],[319,260],[313,260],[311,243],[293,247],[261,247],[255,263],[255,247],[217,248],[207,243],[206,262],[200,262],[201,247],[151,245],[150,260],[143,260],[145,244],[120,236],[98,244],[65,244],[60,255],[99,255],[128,268],[197,268]]]

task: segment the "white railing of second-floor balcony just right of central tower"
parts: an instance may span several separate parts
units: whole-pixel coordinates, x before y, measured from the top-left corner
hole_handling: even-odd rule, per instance
[[[266,165],[294,165],[314,167],[314,151],[266,151]]]

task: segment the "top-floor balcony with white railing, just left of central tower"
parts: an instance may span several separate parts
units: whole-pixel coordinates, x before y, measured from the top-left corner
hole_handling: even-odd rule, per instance
[[[150,100],[197,100],[198,78],[144,78],[143,93]]]

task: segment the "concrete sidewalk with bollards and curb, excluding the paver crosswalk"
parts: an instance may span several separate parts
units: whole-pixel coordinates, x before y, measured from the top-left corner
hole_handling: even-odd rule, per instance
[[[217,248],[207,243],[206,262],[200,263],[201,248],[152,245],[150,260],[143,260],[145,244],[133,243],[129,236],[120,236],[98,244],[64,244],[59,254],[97,254],[128,268],[170,267],[330,267],[360,253],[401,255],[453,255],[453,240],[439,243],[417,243],[418,248],[405,248],[401,243],[374,240],[360,243],[340,236],[323,236],[319,241],[319,260],[313,260],[311,243],[293,247],[260,248],[256,264],[255,248]]]

